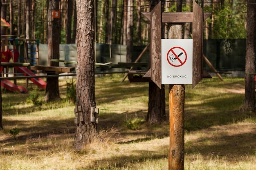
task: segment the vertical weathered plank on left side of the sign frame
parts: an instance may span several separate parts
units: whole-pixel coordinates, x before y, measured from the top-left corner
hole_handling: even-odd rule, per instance
[[[151,80],[161,89],[161,2],[150,13]]]

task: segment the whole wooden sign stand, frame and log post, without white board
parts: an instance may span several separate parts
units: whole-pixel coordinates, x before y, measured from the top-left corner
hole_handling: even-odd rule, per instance
[[[168,38],[182,39],[182,24],[193,22],[193,77],[192,88],[205,76],[211,77],[207,72],[204,73],[202,67],[202,42],[203,42],[203,21],[211,13],[204,13],[200,6],[193,1],[193,13],[162,13],[160,10],[161,2],[150,13],[143,15],[150,20],[150,53],[151,68],[145,74],[161,88],[161,34],[160,22],[177,23],[172,24],[168,31]],[[154,62],[152,64],[152,61]],[[170,148],[169,148],[169,170],[184,170],[184,103],[185,85],[169,85],[169,108],[170,108]]]

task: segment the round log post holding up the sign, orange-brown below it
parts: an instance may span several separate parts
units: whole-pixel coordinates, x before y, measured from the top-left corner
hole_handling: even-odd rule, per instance
[[[182,24],[172,24],[168,38],[182,38]],[[170,146],[168,169],[184,170],[185,85],[169,85]]]

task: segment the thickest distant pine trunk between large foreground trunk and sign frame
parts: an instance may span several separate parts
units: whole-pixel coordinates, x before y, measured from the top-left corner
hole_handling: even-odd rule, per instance
[[[127,6],[127,40],[126,40],[126,62],[132,62],[133,52],[133,0],[128,0]]]

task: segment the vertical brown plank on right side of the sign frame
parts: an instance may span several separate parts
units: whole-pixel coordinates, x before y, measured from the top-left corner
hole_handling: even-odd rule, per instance
[[[193,78],[192,88],[203,78],[203,15],[201,7],[193,1]]]

